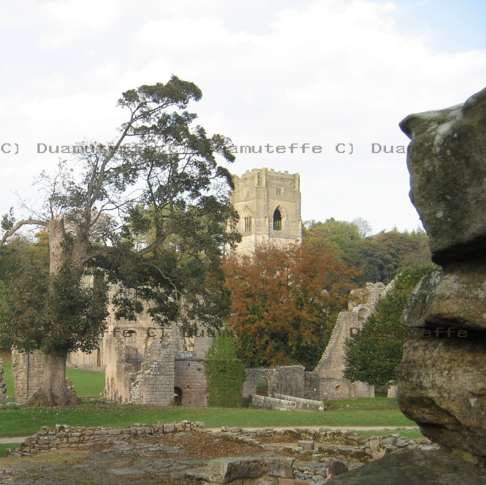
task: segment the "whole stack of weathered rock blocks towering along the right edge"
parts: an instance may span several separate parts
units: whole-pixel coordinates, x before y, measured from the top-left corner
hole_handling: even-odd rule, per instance
[[[424,330],[404,347],[398,402],[432,441],[484,460],[486,89],[400,126],[412,138],[411,198],[443,270],[423,278],[408,300],[403,323]]]

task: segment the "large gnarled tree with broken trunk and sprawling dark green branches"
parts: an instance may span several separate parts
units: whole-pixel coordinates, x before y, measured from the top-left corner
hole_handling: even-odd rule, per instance
[[[11,307],[0,321],[4,345],[44,352],[44,378],[33,404],[71,402],[66,356],[96,346],[107,282],[123,284],[113,301],[118,317],[134,317],[143,300],[160,324],[206,314],[207,274],[218,267],[221,247],[237,235],[226,231],[235,217],[228,200],[231,175],[217,163],[218,155],[228,162],[234,156],[226,138],[208,136],[186,111],[200,97],[196,85],[175,76],[165,85],[124,92],[118,106],[127,118],[116,140],[80,149],[54,175],[42,173],[37,184],[44,203],[31,217],[17,222],[10,211],[2,218],[0,245],[26,225],[47,236],[48,271],[22,267],[7,287]],[[140,244],[148,233],[150,241]],[[214,316],[217,310],[208,311]]]

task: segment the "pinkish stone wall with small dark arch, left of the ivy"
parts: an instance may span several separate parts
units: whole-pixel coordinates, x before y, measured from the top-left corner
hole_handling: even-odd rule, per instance
[[[176,353],[174,387],[181,390],[182,405],[208,405],[208,385],[204,365],[201,360],[195,360],[194,352]]]

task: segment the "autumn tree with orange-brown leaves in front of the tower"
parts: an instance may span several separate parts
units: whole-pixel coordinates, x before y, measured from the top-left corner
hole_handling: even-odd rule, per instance
[[[246,367],[314,368],[357,270],[330,248],[260,246],[225,262],[232,291],[228,325]]]

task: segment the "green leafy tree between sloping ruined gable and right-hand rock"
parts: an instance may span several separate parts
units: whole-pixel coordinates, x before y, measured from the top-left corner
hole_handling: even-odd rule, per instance
[[[400,324],[405,303],[420,279],[437,266],[418,265],[400,270],[394,288],[377,304],[359,335],[346,341],[344,377],[372,386],[395,380],[403,344],[418,338],[420,330]]]

